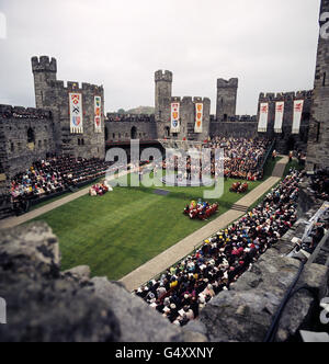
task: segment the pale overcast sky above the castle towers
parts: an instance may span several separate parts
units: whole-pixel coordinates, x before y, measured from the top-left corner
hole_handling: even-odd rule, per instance
[[[239,78],[238,114],[260,92],[313,89],[320,0],[0,0],[0,103],[34,106],[31,57],[57,78],[103,84],[105,112],[154,105],[154,73],[173,95],[208,96]],[[1,24],[0,24],[1,30]]]

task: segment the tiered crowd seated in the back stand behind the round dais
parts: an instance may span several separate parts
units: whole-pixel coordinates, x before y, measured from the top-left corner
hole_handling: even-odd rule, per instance
[[[270,140],[265,138],[225,138],[216,137],[204,147],[224,149],[224,175],[232,179],[258,181],[263,178],[260,169],[264,161]]]

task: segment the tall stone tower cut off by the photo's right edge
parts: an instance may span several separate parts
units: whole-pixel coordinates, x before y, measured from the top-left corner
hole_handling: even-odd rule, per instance
[[[329,168],[329,0],[321,1],[311,121],[308,134],[307,170]]]

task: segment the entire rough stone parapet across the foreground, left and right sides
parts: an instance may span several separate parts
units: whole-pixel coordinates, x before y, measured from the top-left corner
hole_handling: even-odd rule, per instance
[[[296,224],[295,234],[302,231]],[[0,341],[223,342],[263,341],[299,262],[284,258],[290,236],[269,250],[229,292],[214,297],[200,320],[171,325],[120,283],[90,278],[88,266],[60,272],[57,238],[43,223],[4,230],[0,237],[0,297],[8,325]],[[328,269],[308,264],[297,287],[321,296]],[[300,291],[287,305],[277,341],[288,341],[309,318],[313,294]]]

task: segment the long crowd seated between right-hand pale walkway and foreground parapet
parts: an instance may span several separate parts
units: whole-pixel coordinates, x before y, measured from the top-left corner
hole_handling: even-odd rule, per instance
[[[303,174],[291,171],[238,223],[218,231],[194,254],[135,291],[171,322],[184,326],[218,293],[227,291],[294,225]]]

